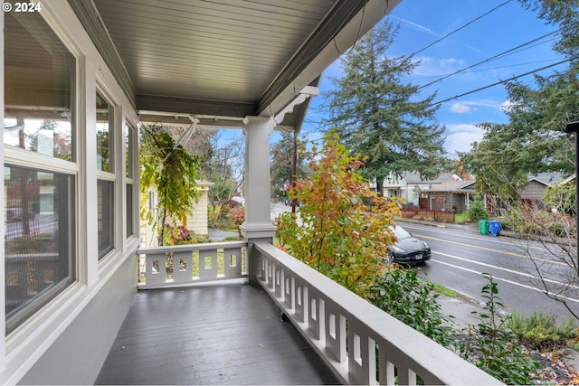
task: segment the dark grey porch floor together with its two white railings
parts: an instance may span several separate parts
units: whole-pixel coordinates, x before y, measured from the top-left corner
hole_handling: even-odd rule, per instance
[[[98,384],[498,384],[269,242],[140,249],[139,267]]]

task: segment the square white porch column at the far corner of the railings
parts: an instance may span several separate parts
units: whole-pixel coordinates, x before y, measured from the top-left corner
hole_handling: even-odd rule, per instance
[[[240,230],[248,242],[248,275],[255,283],[261,275],[260,252],[253,248],[257,241],[273,240],[276,227],[271,223],[270,142],[275,122],[267,117],[247,117],[245,134],[245,221]]]

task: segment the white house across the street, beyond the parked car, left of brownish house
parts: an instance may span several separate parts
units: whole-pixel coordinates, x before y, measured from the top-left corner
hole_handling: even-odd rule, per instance
[[[441,174],[436,178],[423,180],[419,173],[403,172],[400,177],[390,174],[384,178],[384,196],[402,198],[408,207],[418,207],[422,193],[436,184],[447,181],[456,181],[460,177],[456,174]],[[424,208],[426,209],[426,208]]]

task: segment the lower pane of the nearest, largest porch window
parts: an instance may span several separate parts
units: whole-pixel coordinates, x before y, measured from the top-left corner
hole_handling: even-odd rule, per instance
[[[6,165],[6,333],[76,278],[74,177]]]

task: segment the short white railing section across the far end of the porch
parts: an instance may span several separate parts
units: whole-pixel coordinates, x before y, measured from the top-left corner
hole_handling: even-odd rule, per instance
[[[139,288],[246,278],[246,241],[138,249]]]

